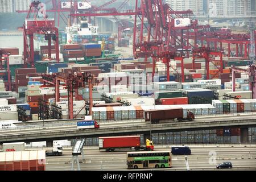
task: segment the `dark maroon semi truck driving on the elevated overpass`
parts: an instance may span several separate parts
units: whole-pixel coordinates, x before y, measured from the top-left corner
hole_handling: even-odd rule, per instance
[[[193,121],[195,115],[187,110],[187,115],[183,115],[184,111],[181,107],[174,109],[158,109],[158,110],[146,110],[145,121],[151,121],[151,123],[159,123],[161,120],[177,119],[178,121]]]

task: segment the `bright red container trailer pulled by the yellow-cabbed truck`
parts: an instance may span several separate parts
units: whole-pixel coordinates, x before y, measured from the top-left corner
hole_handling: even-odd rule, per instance
[[[99,137],[99,148],[125,148],[141,146],[141,137],[138,136],[119,136],[119,137]]]

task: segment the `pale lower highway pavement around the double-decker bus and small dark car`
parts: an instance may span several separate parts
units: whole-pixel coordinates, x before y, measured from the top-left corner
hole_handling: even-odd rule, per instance
[[[256,170],[256,144],[250,146],[200,146],[194,144],[190,147],[192,151],[192,154],[188,155],[190,170],[227,170],[216,169],[216,164],[226,161],[233,164],[233,168],[228,170]],[[170,146],[155,146],[155,150],[170,151]],[[84,148],[85,159],[82,159],[82,155],[79,156],[81,170],[127,170],[126,152],[105,152],[99,151],[97,147],[86,147]],[[71,170],[72,150],[70,148],[64,150],[63,154],[62,156],[48,156],[46,158],[46,170]],[[77,164],[74,167],[76,170]],[[187,167],[183,155],[172,155],[172,168],[153,170],[187,170]]]

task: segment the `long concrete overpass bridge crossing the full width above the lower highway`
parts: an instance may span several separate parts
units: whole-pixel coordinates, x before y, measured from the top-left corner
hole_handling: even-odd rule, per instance
[[[115,135],[143,134],[144,138],[149,138],[150,133],[177,132],[177,131],[195,131],[220,129],[224,127],[241,128],[241,143],[248,142],[248,128],[256,127],[256,116],[247,117],[212,117],[200,118],[192,122],[164,122],[159,124],[135,123],[127,125],[111,124],[101,129],[78,130],[75,125],[70,126],[50,126],[34,127],[32,130],[27,128],[18,128],[4,130],[0,133],[0,143],[5,142],[38,142],[52,141],[59,139],[73,139],[81,137],[103,137]]]

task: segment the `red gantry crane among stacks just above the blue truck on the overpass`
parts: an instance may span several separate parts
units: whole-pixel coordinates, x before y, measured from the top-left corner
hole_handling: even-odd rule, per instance
[[[60,82],[64,82],[67,85],[68,89],[68,118],[73,119],[73,93],[75,92],[76,100],[83,100],[79,97],[78,89],[85,88],[86,84],[89,85],[89,114],[92,115],[92,88],[94,82],[94,76],[90,73],[78,72],[78,73],[69,73],[68,75],[64,75],[64,73],[56,73],[53,75],[44,74],[43,76],[44,86],[54,86],[55,87],[55,101],[60,101]],[[85,105],[81,108],[84,109]],[[80,111],[81,111],[80,110]],[[79,113],[80,113],[79,111]],[[75,113],[75,117],[77,114]]]

